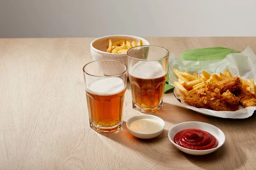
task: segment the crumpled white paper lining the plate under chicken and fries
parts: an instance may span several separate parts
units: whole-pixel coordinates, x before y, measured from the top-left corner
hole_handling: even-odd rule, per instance
[[[173,73],[174,68],[177,68],[180,71],[189,70],[190,74],[194,72],[202,74],[202,71],[205,70],[210,74],[219,74],[220,72],[224,73],[224,70],[229,69],[229,71],[234,76],[239,76],[242,79],[247,81],[250,78],[256,79],[256,55],[253,53],[253,50],[247,46],[247,48],[241,53],[232,53],[228,54],[225,59],[215,59],[207,61],[185,61],[175,58],[174,54],[171,54],[169,57],[169,84],[173,85],[174,81],[177,81],[177,76]],[[183,102],[183,97],[178,88],[175,88],[174,94],[177,99],[186,107],[198,113],[222,117],[222,118],[233,118],[233,119],[244,119],[253,115],[256,107],[247,107],[244,108],[242,105],[239,105],[239,110],[237,111],[212,111],[204,108],[195,108],[193,106],[187,105]],[[178,95],[177,95],[178,94]]]

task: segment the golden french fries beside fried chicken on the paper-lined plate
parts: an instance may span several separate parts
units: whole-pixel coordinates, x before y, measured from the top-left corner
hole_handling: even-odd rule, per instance
[[[197,91],[198,88],[207,88],[204,82],[220,82],[222,80],[233,78],[233,74],[227,69],[224,74],[209,74],[206,71],[202,71],[202,75],[197,73],[189,74],[189,71],[180,72],[177,69],[173,70],[176,76],[178,77],[178,82],[173,82],[173,84],[183,93],[184,96],[192,94]],[[243,87],[247,89],[251,94],[255,95],[256,85],[254,85],[254,79],[251,78],[250,82],[247,82],[244,79],[241,79]]]

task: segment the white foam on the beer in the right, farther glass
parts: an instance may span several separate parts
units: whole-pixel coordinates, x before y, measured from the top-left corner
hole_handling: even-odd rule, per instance
[[[163,66],[157,61],[139,61],[129,71],[133,77],[154,79],[165,74]]]

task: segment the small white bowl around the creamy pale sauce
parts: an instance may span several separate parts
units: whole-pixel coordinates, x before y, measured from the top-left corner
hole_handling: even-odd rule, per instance
[[[145,133],[134,132],[130,128],[131,122],[134,122],[135,120],[140,120],[140,119],[154,119],[154,120],[157,120],[157,122],[159,122],[163,126],[163,128],[161,130],[155,132],[155,133],[146,133],[145,134]],[[127,122],[126,122],[126,126],[128,127],[129,132],[133,136],[135,136],[137,138],[141,138],[141,139],[151,139],[151,138],[157,137],[158,135],[160,135],[163,132],[164,127],[165,127],[165,122],[160,117],[157,117],[157,116],[154,116],[154,115],[142,114],[142,115],[133,116],[130,119],[128,119]]]

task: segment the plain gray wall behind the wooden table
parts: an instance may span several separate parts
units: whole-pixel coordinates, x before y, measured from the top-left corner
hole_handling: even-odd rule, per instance
[[[256,36],[256,0],[0,0],[0,37]]]

